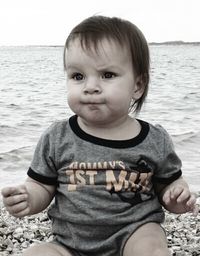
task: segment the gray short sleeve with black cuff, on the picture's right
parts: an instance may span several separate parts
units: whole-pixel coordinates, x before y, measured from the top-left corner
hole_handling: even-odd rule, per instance
[[[182,162],[175,152],[174,144],[170,135],[162,126],[157,126],[160,130],[161,156],[158,168],[154,175],[155,183],[170,184],[182,175]]]

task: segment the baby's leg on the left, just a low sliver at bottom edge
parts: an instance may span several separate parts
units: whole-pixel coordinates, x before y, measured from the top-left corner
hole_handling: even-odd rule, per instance
[[[67,249],[55,243],[42,243],[29,247],[23,256],[73,256]]]

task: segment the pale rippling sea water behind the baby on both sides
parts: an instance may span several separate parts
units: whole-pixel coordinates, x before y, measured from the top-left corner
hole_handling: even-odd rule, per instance
[[[138,118],[164,126],[192,190],[200,191],[200,45],[151,45]],[[63,47],[0,47],[0,189],[22,183],[41,133],[72,115]]]

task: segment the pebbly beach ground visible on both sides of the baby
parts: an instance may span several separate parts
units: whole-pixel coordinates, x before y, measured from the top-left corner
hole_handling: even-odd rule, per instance
[[[198,193],[197,203],[200,202]],[[168,247],[174,256],[200,255],[200,213],[172,214],[166,212],[163,224]],[[0,255],[21,255],[32,244],[53,239],[47,210],[36,215],[17,219],[0,206]]]

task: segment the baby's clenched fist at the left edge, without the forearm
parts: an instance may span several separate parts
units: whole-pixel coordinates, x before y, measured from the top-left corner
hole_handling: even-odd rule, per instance
[[[7,211],[15,217],[29,214],[29,195],[25,185],[6,187],[2,191],[3,203]]]

